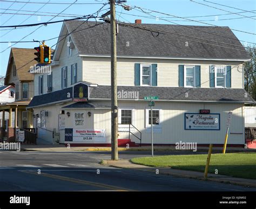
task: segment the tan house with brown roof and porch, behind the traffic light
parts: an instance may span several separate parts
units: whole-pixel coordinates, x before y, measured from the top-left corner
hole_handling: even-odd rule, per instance
[[[31,48],[11,48],[4,84],[14,86],[15,97],[14,100],[0,105],[0,112],[9,112],[9,118],[14,119],[14,123],[9,122],[8,128],[5,127],[8,130],[7,135],[0,135],[0,138],[7,137],[11,141],[15,138],[16,128],[33,127],[33,113],[26,110],[26,106],[33,97],[34,75],[28,71],[37,64],[33,60],[34,53],[35,50]]]

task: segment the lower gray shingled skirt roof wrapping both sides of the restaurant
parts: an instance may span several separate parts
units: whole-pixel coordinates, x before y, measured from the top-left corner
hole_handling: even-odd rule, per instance
[[[254,103],[252,97],[248,94],[245,97],[246,90],[241,88],[183,88],[183,87],[144,87],[144,86],[118,86],[118,92],[138,92],[139,100],[143,100],[144,96],[159,96],[159,100],[170,101],[195,101],[195,102],[233,102],[233,103]],[[72,97],[72,87],[57,90],[49,94],[34,96],[27,108],[48,105],[49,103],[58,103],[60,101],[68,101],[66,97],[70,93]],[[185,94],[188,93],[188,97]],[[110,86],[90,87],[90,99],[108,99],[111,98]],[[129,99],[129,98],[127,98]],[[132,98],[131,98],[132,99]],[[135,100],[136,98],[134,98]],[[88,103],[87,103],[88,104]],[[102,107],[92,103],[91,108]],[[81,108],[85,107],[83,102],[77,102],[65,108]],[[108,106],[106,106],[108,107]]]

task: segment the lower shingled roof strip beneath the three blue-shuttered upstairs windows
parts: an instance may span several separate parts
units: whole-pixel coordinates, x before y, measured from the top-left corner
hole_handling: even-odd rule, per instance
[[[98,86],[90,88],[90,98],[110,99],[111,86]],[[180,101],[230,101],[254,103],[246,90],[241,88],[183,88],[183,87],[144,87],[144,86],[118,86],[118,92],[138,92],[139,99],[144,96],[159,96],[159,100]],[[185,94],[188,93],[188,97]]]

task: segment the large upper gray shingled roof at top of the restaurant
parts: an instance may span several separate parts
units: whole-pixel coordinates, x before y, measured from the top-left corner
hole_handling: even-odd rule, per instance
[[[66,22],[65,24],[68,26],[69,31],[73,31],[79,26],[79,32],[72,33],[71,36],[80,54],[110,55],[111,41],[109,23],[103,23],[92,27],[96,22],[81,24],[80,20],[73,20]],[[150,31],[119,25],[119,33],[117,36],[117,55],[250,59],[250,56],[229,27],[182,26],[167,24],[140,25],[144,27],[151,27],[153,29],[184,34],[186,36],[218,41],[219,43],[170,33],[160,33],[158,37],[153,37]],[[88,29],[88,27],[91,28]],[[154,36],[156,36],[156,33],[154,33]],[[212,45],[198,43],[193,40],[210,43]],[[185,45],[186,41],[188,41],[188,46]],[[129,46],[126,46],[128,42]],[[221,44],[221,42],[226,44]],[[220,45],[225,47],[220,47]]]

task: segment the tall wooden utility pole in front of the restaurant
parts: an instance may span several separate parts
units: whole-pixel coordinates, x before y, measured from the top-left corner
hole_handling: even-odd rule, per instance
[[[111,159],[118,160],[118,117],[117,117],[117,33],[116,5],[110,0],[111,24]]]

